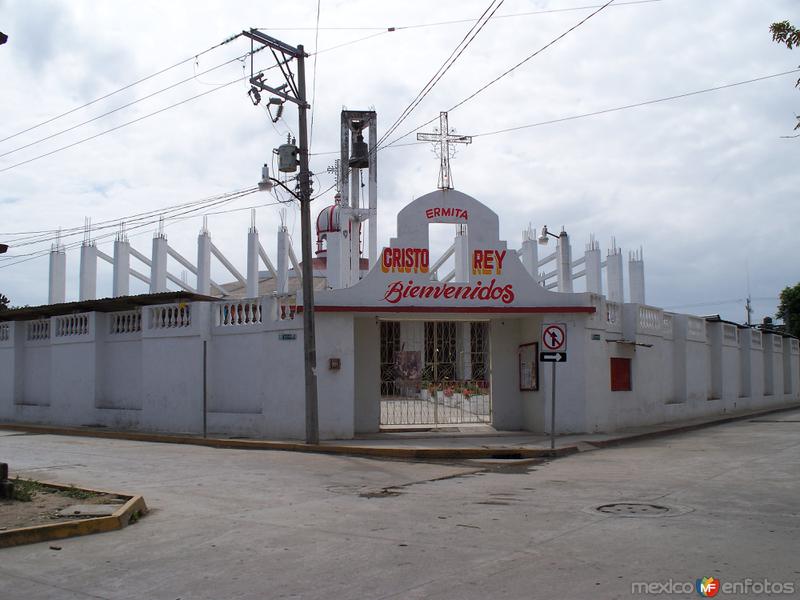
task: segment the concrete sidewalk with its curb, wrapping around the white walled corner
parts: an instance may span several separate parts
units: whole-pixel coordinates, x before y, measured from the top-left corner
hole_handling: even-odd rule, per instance
[[[0,423],[0,429],[54,435],[75,435],[157,443],[192,444],[213,448],[317,452],[348,456],[397,459],[523,459],[564,456],[593,448],[615,446],[652,437],[692,431],[732,421],[753,419],[800,408],[800,403],[724,416],[691,419],[662,425],[635,427],[614,433],[550,437],[519,431],[495,431],[489,426],[446,427],[438,431],[384,431],[352,440],[331,440],[305,444],[297,440],[258,440],[188,434],[115,431],[93,427],[55,427],[50,425]]]

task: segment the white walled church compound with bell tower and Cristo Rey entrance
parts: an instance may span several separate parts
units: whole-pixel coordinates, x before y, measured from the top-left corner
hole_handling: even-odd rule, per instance
[[[353,122],[365,127],[370,114],[374,124],[374,113],[353,120],[343,114],[346,130]],[[557,238],[549,255],[539,256],[543,246],[531,230],[511,247],[500,239],[497,213],[447,188],[403,208],[396,236],[378,250],[377,177],[373,164],[368,168],[369,206],[351,200],[358,194],[348,190],[343,160],[341,198],[317,220],[322,438],[471,423],[549,432],[552,372],[558,434],[800,400],[796,338],[647,305],[638,253],[628,261],[626,302],[619,248],[602,256],[591,240],[573,259],[569,237],[546,230],[542,242]],[[364,223],[368,256],[361,250]],[[440,223],[453,225],[454,239],[442,256],[432,256],[429,231]],[[65,259],[55,248],[50,304],[0,313],[0,422],[304,437],[300,269],[280,231],[273,264],[251,227],[246,275],[205,228],[196,264],[159,235],[150,258],[124,236],[114,257],[91,242],[81,250],[80,301],[64,302]],[[130,268],[131,255],[146,261],[149,277]],[[167,280],[177,283],[168,256],[190,268],[196,287],[177,280],[185,291],[166,291]],[[212,256],[234,275],[233,284],[211,280]],[[113,298],[96,299],[98,258],[114,265]],[[131,276],[145,279],[152,293],[129,295]],[[581,279],[587,291],[574,292]],[[540,364],[540,353],[552,349],[542,338],[551,324],[566,334],[549,355],[565,359],[552,371]]]

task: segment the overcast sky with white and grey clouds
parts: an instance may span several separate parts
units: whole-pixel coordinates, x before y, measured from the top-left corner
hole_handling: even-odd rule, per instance
[[[392,137],[458,104],[599,4],[506,0]],[[250,102],[246,84],[236,81],[250,69],[236,60],[250,48],[244,38],[206,52],[251,27],[319,50],[307,75],[311,168],[322,192],[333,184],[326,168],[336,158],[342,107],[374,108],[380,135],[487,6],[321,0],[317,32],[316,0],[0,0],[0,31],[9,36],[0,46],[0,139],[7,138],[0,141],[0,242],[68,232],[84,217],[113,222],[252,187],[272,148],[287,131],[296,133],[297,114],[287,108],[273,126],[263,106]],[[500,214],[501,237],[512,247],[528,223],[565,226],[573,256],[592,233],[604,251],[612,236],[625,251],[643,247],[650,304],[741,321],[749,274],[755,318],[774,313],[780,290],[800,281],[800,138],[782,137],[800,112],[798,74],[493,132],[791,71],[800,49],[778,46],[769,33],[770,23],[784,19],[800,24],[796,1],[618,0],[450,112],[452,127],[476,136],[453,161],[456,188]],[[254,58],[256,69],[272,64],[266,53]],[[274,73],[267,81],[280,83]],[[205,95],[148,116],[198,94]],[[397,211],[436,187],[430,146],[403,145],[414,137],[378,155],[379,245],[394,234]],[[315,214],[332,194],[314,201]],[[215,243],[244,269],[246,208],[256,205],[268,251],[284,209],[299,254],[299,211],[264,193],[167,218],[170,245],[193,258],[200,215],[212,213]],[[132,244],[149,254],[154,229],[131,229]],[[0,292],[12,304],[46,302],[51,237],[12,241],[0,258]],[[80,239],[77,232],[64,242]],[[112,238],[98,245],[110,254]],[[67,262],[67,297],[76,299],[77,249]],[[99,270],[98,293],[110,295],[111,267],[101,262]],[[171,270],[180,275],[180,267]]]

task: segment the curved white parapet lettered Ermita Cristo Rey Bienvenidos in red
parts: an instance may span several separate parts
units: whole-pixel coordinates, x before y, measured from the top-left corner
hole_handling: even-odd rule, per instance
[[[464,280],[443,283],[432,278],[431,266],[438,257],[430,255],[431,223],[467,226],[466,248],[461,248],[467,261]],[[356,285],[320,291],[315,297],[321,308],[387,311],[588,306],[582,294],[550,292],[539,285],[516,250],[500,239],[497,213],[456,190],[437,190],[408,204],[397,215],[397,237],[380,253],[375,267]]]

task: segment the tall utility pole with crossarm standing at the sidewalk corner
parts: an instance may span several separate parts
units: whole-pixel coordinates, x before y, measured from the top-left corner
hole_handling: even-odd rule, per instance
[[[278,61],[286,83],[276,87],[264,82],[263,73],[251,76],[250,83],[262,91],[267,91],[278,98],[288,100],[297,105],[300,143],[300,173],[298,174],[300,201],[300,226],[302,232],[302,259],[303,259],[303,350],[305,355],[305,388],[306,388],[306,443],[319,443],[319,415],[317,403],[317,348],[314,335],[314,267],[311,254],[311,183],[308,171],[308,115],[310,108],[306,102],[306,53],[303,46],[297,48],[289,46],[278,39],[268,36],[257,29],[243,31],[242,35],[268,46]],[[280,53],[281,59],[277,53]],[[297,60],[297,82],[294,80],[289,62]],[[251,73],[252,75],[252,73]]]

